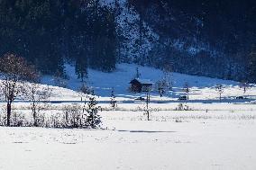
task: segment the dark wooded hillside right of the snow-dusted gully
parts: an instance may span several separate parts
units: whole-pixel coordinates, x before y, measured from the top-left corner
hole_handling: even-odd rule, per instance
[[[249,64],[256,35],[255,1],[129,2],[160,35],[151,50],[153,64],[170,60],[178,72],[255,81]]]

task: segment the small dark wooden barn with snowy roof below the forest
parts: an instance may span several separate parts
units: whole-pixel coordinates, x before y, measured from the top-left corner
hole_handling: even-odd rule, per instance
[[[134,78],[131,82],[131,91],[135,93],[148,92],[152,89],[153,83],[149,79]]]

